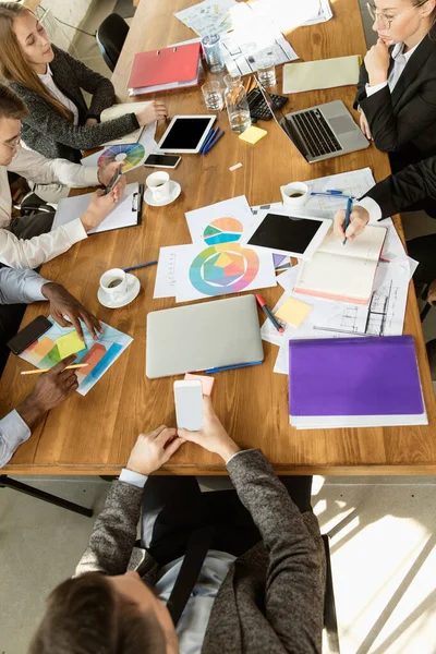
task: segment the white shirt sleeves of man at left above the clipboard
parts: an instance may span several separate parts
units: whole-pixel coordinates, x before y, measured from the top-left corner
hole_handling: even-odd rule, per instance
[[[12,199],[8,170],[38,184],[53,182],[65,186],[99,184],[97,167],[81,166],[66,159],[46,159],[33,150],[19,148],[8,167],[0,166],[0,263],[12,268],[37,268],[66,252],[74,243],[86,239],[80,216],[55,231],[27,240],[17,239],[12,232],[1,229],[8,227],[11,221]]]

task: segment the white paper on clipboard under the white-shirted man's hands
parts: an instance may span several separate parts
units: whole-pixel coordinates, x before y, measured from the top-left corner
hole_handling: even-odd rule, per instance
[[[100,222],[98,227],[90,230],[89,234],[121,229],[123,227],[133,227],[137,225],[138,198],[134,198],[134,193],[138,192],[138,184],[128,184],[124,195],[114,206],[110,214]],[[76,218],[83,216],[89,206],[92,193],[85,195],[75,195],[74,197],[64,197],[59,202],[51,231],[61,225],[66,225]]]

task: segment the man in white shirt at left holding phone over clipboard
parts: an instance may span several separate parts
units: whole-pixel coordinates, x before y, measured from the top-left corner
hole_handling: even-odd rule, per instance
[[[86,239],[87,232],[106,218],[125,187],[123,178],[108,195],[104,195],[101,190],[97,191],[82,217],[49,233],[43,233],[51,227],[47,215],[34,216],[32,231],[27,229],[26,233],[23,232],[23,235],[32,238],[17,238],[9,229],[11,191],[8,171],[40,184],[59,182],[66,186],[96,186],[107,185],[119,167],[119,162],[97,168],[72,164],[65,159],[50,160],[33,150],[22,148],[21,121],[26,116],[27,109],[19,96],[4,84],[0,84],[0,263],[13,268],[37,268],[69,250],[74,243]],[[28,221],[26,222],[28,228]]]

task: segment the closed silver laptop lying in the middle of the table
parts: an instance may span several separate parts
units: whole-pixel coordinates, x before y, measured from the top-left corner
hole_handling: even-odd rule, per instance
[[[149,379],[263,360],[253,294],[147,315],[145,373]]]

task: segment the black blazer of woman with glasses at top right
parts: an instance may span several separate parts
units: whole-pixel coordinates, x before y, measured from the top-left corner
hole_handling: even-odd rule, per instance
[[[390,61],[390,68],[393,60]],[[366,97],[368,75],[361,66],[354,108],[360,105],[378,149],[389,153],[393,172],[436,155],[436,28],[410,57],[392,94]]]

